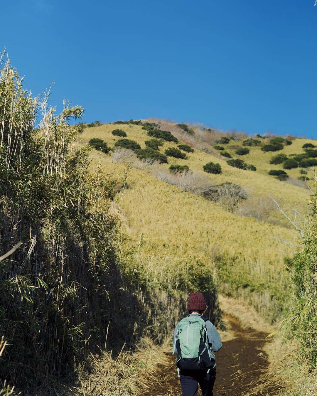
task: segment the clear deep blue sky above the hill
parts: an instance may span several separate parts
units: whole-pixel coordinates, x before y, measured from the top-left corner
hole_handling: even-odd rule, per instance
[[[159,117],[317,139],[314,0],[11,0],[0,46],[86,122]]]

